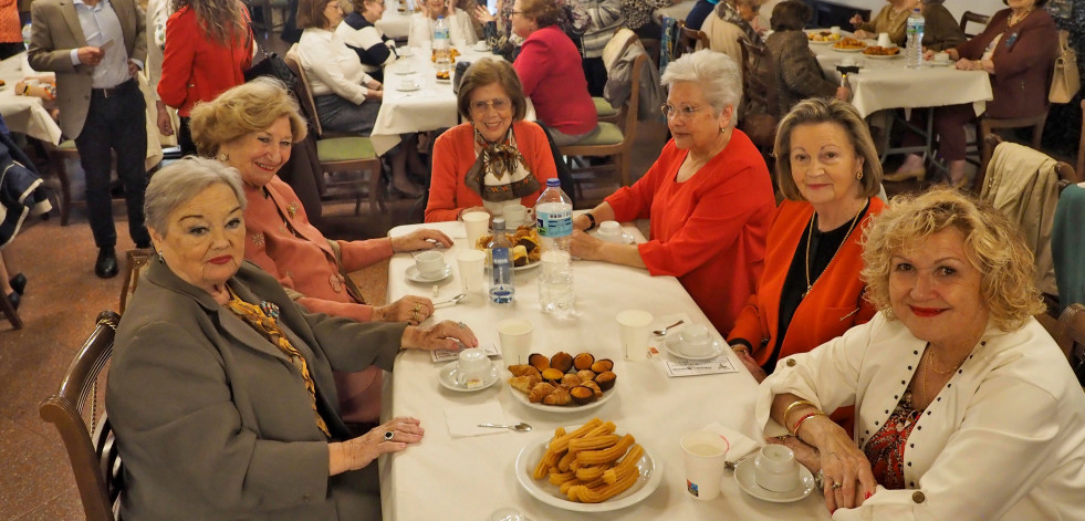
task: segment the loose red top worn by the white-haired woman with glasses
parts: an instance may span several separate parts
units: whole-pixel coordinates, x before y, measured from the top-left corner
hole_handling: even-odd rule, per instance
[[[650,217],[649,241],[638,247],[648,272],[677,277],[722,333],[761,277],[776,201],[769,168],[742,131],[693,177],[675,183],[687,154],[671,139],[640,180],[606,201],[618,221]]]

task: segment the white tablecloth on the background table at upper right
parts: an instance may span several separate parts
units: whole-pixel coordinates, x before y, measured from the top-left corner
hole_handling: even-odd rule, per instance
[[[874,41],[867,41],[873,44]],[[958,71],[952,65],[907,69],[905,59],[880,60],[862,52],[841,52],[832,45],[811,44],[818,63],[836,77],[836,65],[854,59],[863,69],[848,75],[852,104],[863,117],[886,108],[917,108],[972,103],[976,114],[994,98],[991,80],[983,71]],[[901,54],[904,50],[901,49]]]

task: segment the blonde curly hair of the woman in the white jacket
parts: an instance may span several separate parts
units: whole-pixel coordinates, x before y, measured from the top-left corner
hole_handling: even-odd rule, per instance
[[[866,298],[887,317],[889,270],[895,253],[948,228],[964,237],[968,261],[980,272],[980,295],[1002,331],[1021,327],[1045,306],[1034,282],[1035,262],[1021,230],[985,201],[951,188],[897,196],[863,233],[860,273]]]

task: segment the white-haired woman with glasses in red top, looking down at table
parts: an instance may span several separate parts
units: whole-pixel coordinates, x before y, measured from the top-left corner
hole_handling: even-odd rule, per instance
[[[709,50],[686,54],[667,66],[663,84],[674,138],[640,180],[576,217],[572,252],[677,277],[716,329],[730,331],[764,265],[775,208],[769,168],[734,128],[742,80],[733,60]],[[606,220],[649,216],[643,244],[584,233]]]

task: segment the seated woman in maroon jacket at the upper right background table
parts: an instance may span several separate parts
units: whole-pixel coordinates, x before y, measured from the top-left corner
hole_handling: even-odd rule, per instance
[[[1047,111],[1052,67],[1058,54],[1055,21],[1043,10],[1047,0],[1003,2],[1010,9],[994,13],[983,32],[946,52],[950,60],[957,61],[958,70],[985,71],[991,75],[994,100],[987,104],[989,117],[1032,117]],[[924,59],[930,60],[933,54],[927,51]],[[921,112],[914,112],[920,128],[925,126],[921,124]],[[949,180],[954,185],[966,180],[964,125],[977,116],[970,103],[935,108],[938,154],[949,163]],[[922,145],[922,138],[909,133],[905,136],[904,145]],[[922,179],[925,175],[922,157],[909,154],[897,171],[886,176],[886,180]]]

